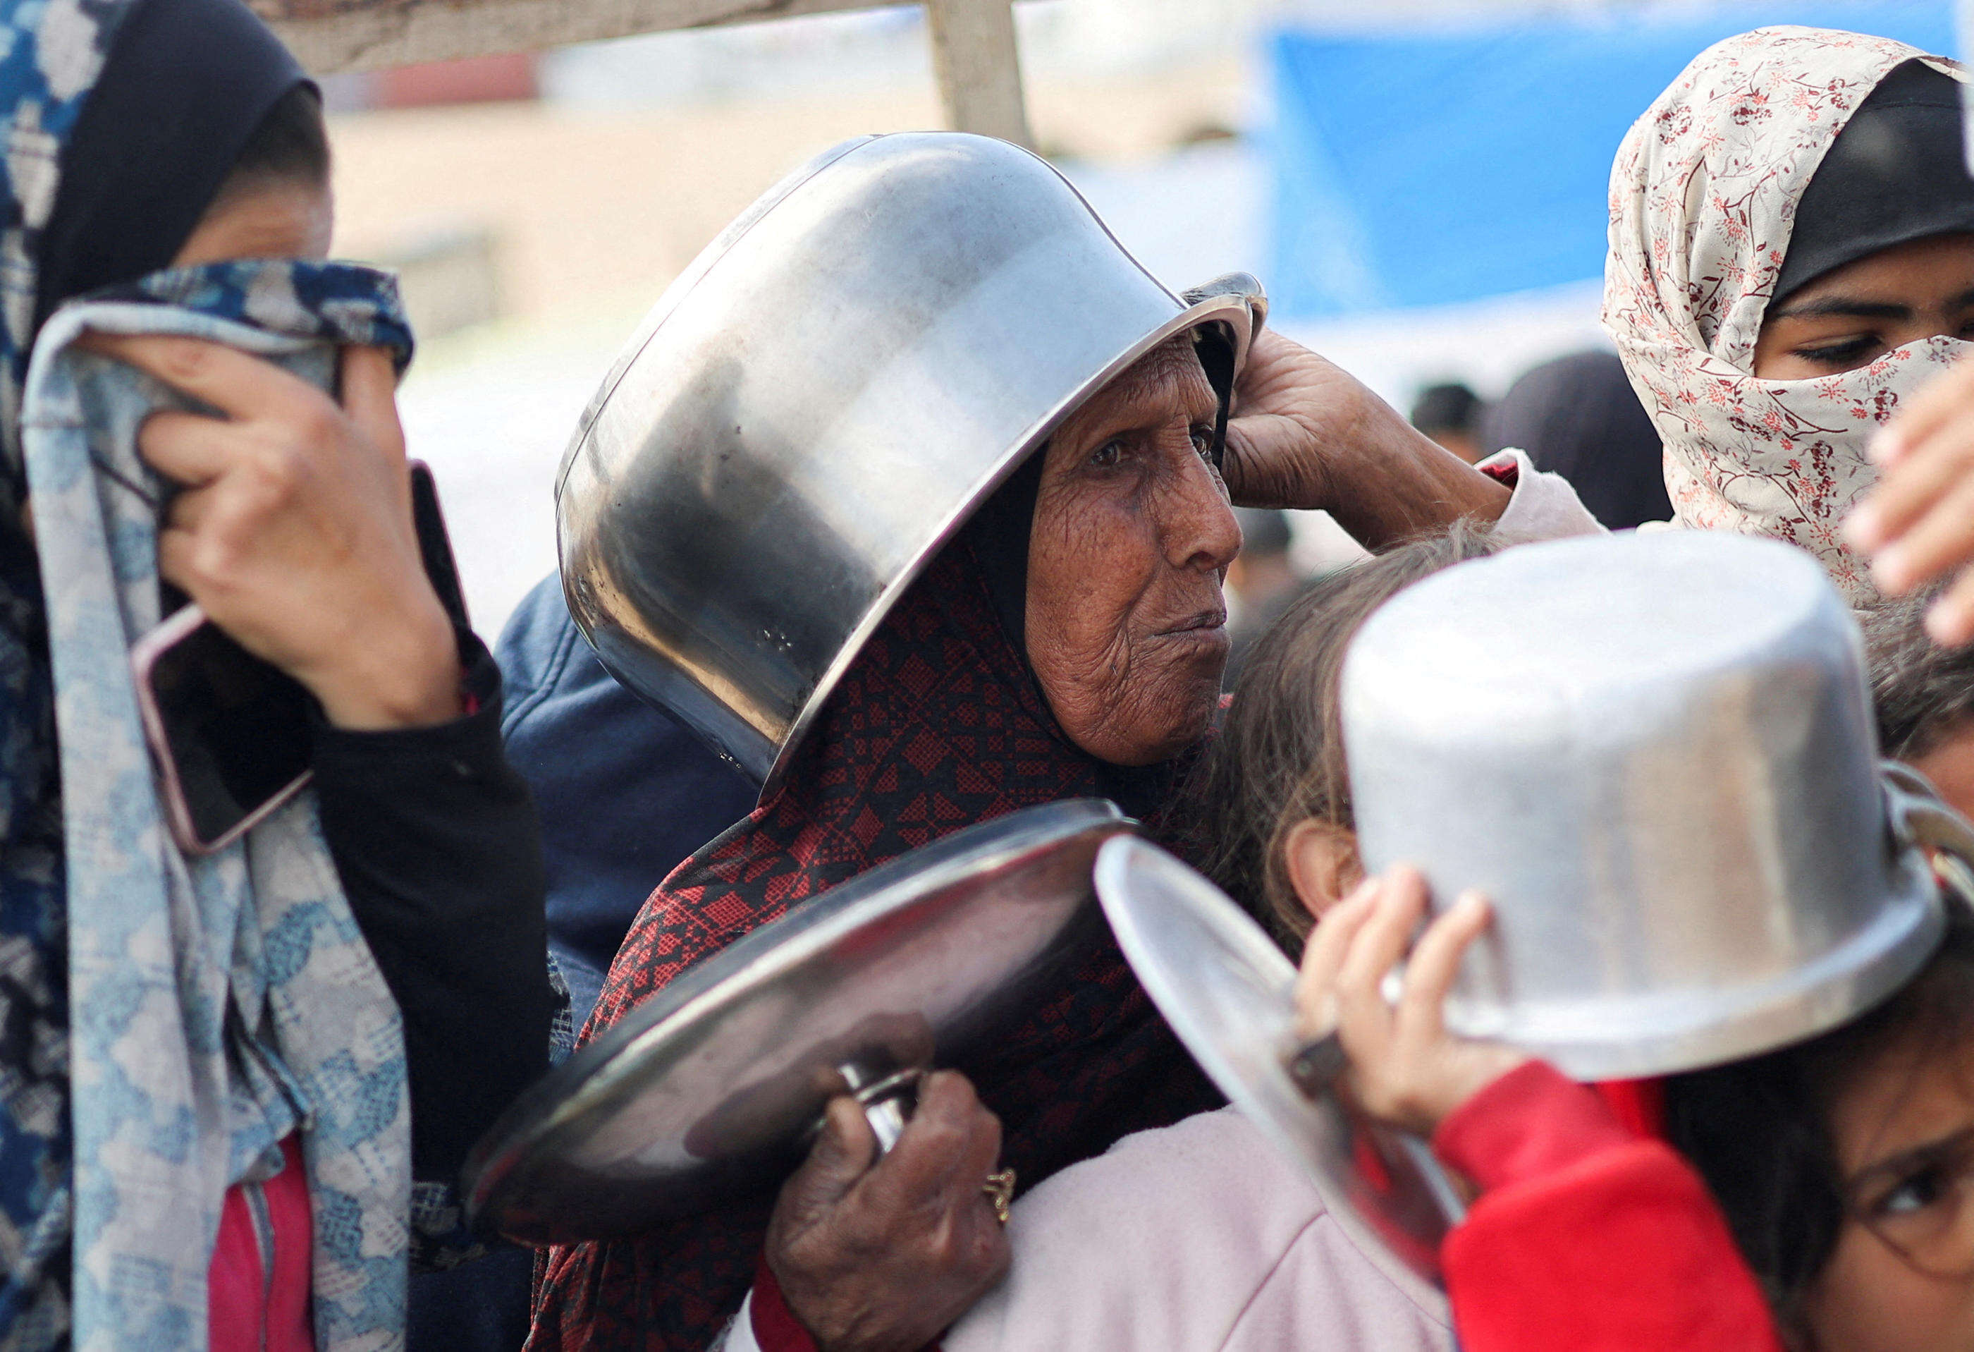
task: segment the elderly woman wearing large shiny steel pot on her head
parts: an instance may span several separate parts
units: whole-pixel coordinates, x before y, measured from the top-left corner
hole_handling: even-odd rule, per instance
[[[645,902],[584,1036],[959,827],[1076,795],[1157,819],[1220,703],[1230,499],[1374,543],[1542,533],[1544,499],[1589,529],[1261,314],[1252,278],[1171,294],[1042,160],[961,134],[839,146],[681,276],[570,446],[563,584],[602,663],[764,789]],[[989,1172],[1210,1101],[1105,947],[880,1161],[843,1111],[780,1202],[553,1249],[535,1340],[701,1348],[766,1273],[821,1346],[930,1342],[1007,1263]]]

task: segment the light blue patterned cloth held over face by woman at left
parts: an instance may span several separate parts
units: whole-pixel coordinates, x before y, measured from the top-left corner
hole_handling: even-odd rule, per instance
[[[77,1348],[207,1346],[225,1192],[302,1131],[322,1352],[403,1344],[409,1095],[397,1005],[300,795],[184,857],[164,825],[130,643],[160,620],[148,377],[85,330],[227,341],[330,387],[342,343],[411,357],[393,278],[314,263],[162,272],[63,306],[22,403],[53,659],[67,861]]]

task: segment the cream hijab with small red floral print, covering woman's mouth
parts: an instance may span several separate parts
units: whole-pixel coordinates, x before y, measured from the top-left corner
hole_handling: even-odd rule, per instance
[[[1674,519],[1800,545],[1858,606],[1877,592],[1838,527],[1877,482],[1865,442],[1968,343],[1929,338],[1802,381],[1749,371],[1802,191],[1858,105],[1915,57],[1962,79],[1887,38],[1729,38],[1646,109],[1611,168],[1603,322],[1664,440]]]

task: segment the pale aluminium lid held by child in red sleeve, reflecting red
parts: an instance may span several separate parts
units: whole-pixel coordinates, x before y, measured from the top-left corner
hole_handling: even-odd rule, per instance
[[[1334,1089],[1297,1088],[1295,965],[1226,892],[1145,841],[1107,843],[1096,886],[1125,959],[1200,1068],[1315,1182],[1356,1247],[1421,1311],[1451,1318],[1439,1241],[1459,1200],[1423,1143]]]

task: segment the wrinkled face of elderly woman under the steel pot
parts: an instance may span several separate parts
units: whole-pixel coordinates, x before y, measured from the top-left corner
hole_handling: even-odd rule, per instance
[[[1028,661],[1080,748],[1149,766],[1206,732],[1240,525],[1208,460],[1218,401],[1180,338],[1048,442],[1028,543]]]

